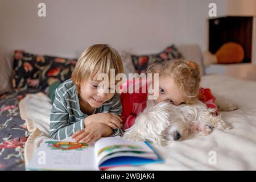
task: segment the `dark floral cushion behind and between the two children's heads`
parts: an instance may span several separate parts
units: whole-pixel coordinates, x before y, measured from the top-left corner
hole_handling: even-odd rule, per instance
[[[167,47],[164,51],[157,54],[141,56],[131,55],[131,60],[133,60],[134,67],[138,73],[146,72],[148,64],[157,59],[173,60],[182,58],[183,56],[174,45]]]

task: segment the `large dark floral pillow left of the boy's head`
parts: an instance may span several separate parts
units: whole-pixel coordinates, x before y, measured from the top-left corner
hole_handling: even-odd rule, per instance
[[[15,51],[13,88],[44,90],[55,81],[69,79],[76,63],[76,59]]]

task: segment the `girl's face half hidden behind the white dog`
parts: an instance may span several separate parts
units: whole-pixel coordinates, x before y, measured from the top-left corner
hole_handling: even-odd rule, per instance
[[[154,79],[153,79],[154,80]],[[161,76],[159,77],[159,96],[155,101],[155,104],[158,104],[162,101],[169,101],[171,104],[180,105],[185,102],[183,94],[176,84],[174,79],[170,76]]]

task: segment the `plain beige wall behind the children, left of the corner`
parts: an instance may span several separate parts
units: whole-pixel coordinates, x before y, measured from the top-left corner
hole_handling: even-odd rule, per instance
[[[46,17],[38,17],[38,3]],[[1,0],[0,50],[78,56],[94,43],[159,52],[187,42],[187,0]]]

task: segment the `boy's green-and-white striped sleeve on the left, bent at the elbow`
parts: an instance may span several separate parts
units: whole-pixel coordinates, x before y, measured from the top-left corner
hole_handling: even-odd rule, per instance
[[[50,114],[50,136],[52,139],[62,140],[70,137],[78,130],[84,129],[84,119],[79,122],[70,123],[67,111],[67,102],[63,94],[55,90],[55,100],[53,101]]]

